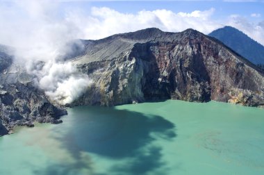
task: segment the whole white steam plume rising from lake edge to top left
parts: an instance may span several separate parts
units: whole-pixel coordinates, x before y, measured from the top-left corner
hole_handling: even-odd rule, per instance
[[[36,77],[37,85],[51,100],[64,105],[85,92],[92,80],[59,59],[72,53],[67,43],[83,35],[67,17],[60,17],[58,5],[41,0],[2,3],[0,42],[15,47],[15,62]]]

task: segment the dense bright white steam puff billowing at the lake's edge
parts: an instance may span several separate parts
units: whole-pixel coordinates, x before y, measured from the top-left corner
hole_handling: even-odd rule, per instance
[[[49,66],[49,64],[47,64]],[[45,66],[44,69],[47,69]],[[87,75],[76,74],[72,63],[51,63],[47,74],[40,79],[40,88],[46,90],[46,94],[62,104],[71,103],[78,98],[80,92],[84,92],[92,83]]]

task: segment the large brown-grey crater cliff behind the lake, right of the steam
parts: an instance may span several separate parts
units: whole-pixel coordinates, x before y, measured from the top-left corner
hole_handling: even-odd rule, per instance
[[[94,84],[72,105],[164,99],[264,105],[263,71],[198,31],[147,28],[83,43],[81,54],[68,61]]]

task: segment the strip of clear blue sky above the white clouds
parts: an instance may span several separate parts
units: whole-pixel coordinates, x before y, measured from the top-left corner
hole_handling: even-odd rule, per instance
[[[251,17],[251,14],[260,14],[258,20],[263,19],[263,1],[68,1],[64,8],[76,7],[88,10],[92,6],[108,7],[119,12],[136,13],[140,10],[166,9],[173,12],[192,12],[194,10],[208,10],[215,8],[215,19],[225,18],[229,15],[242,15]]]

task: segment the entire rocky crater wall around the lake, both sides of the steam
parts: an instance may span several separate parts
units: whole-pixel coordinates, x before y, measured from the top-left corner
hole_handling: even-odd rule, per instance
[[[115,106],[180,99],[264,106],[264,72],[222,42],[198,31],[147,28],[82,40],[65,57],[93,84],[69,106]],[[0,47],[0,135],[34,121],[58,123],[66,111],[51,103],[33,77]]]

